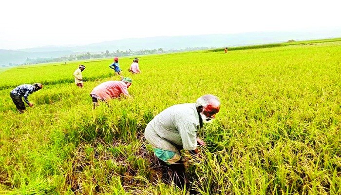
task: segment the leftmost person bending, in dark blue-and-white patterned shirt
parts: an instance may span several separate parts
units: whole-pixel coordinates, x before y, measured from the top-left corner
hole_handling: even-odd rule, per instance
[[[32,107],[33,103],[29,102],[27,97],[33,92],[42,88],[43,86],[40,83],[34,83],[33,85],[23,84],[11,91],[10,96],[13,100],[13,103],[17,106],[19,113],[24,113],[24,110],[26,109],[25,104],[22,101],[22,97],[24,98],[24,101],[27,103],[27,105]]]

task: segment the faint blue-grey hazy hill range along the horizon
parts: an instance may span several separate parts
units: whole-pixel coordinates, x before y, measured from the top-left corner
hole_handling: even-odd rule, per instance
[[[341,37],[341,29],[315,30],[302,32],[252,32],[239,34],[216,34],[175,37],[152,37],[139,39],[120,39],[77,46],[44,46],[36,48],[5,50],[0,49],[0,66],[21,64],[27,58],[58,58],[76,53],[100,53],[125,50],[158,49],[164,51],[197,47],[232,47],[253,44],[285,42],[289,39],[327,39]]]

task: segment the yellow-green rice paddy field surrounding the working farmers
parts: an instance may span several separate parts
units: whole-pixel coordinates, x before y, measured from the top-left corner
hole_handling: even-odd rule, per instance
[[[189,195],[162,178],[144,128],[165,108],[221,99],[216,120],[183,151],[202,195],[341,194],[341,39],[120,58],[132,98],[92,109],[91,90],[119,80],[113,59],[18,66],[0,73],[0,194]],[[78,64],[84,88],[73,73]],[[44,85],[19,114],[9,93]]]

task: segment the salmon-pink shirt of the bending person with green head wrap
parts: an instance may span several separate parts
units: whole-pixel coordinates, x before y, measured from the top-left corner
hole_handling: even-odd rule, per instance
[[[110,98],[119,98],[121,94],[129,96],[126,83],[123,81],[107,81],[96,86],[90,94],[95,94],[99,98],[108,100]]]

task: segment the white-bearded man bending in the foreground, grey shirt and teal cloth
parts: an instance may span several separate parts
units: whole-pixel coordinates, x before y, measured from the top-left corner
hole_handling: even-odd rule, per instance
[[[204,95],[196,103],[170,106],[156,115],[145,129],[145,137],[155,156],[160,164],[170,168],[174,183],[181,189],[185,184],[185,165],[180,150],[198,154],[197,145],[205,145],[205,142],[197,137],[197,131],[203,122],[212,121],[219,110],[219,98]]]

